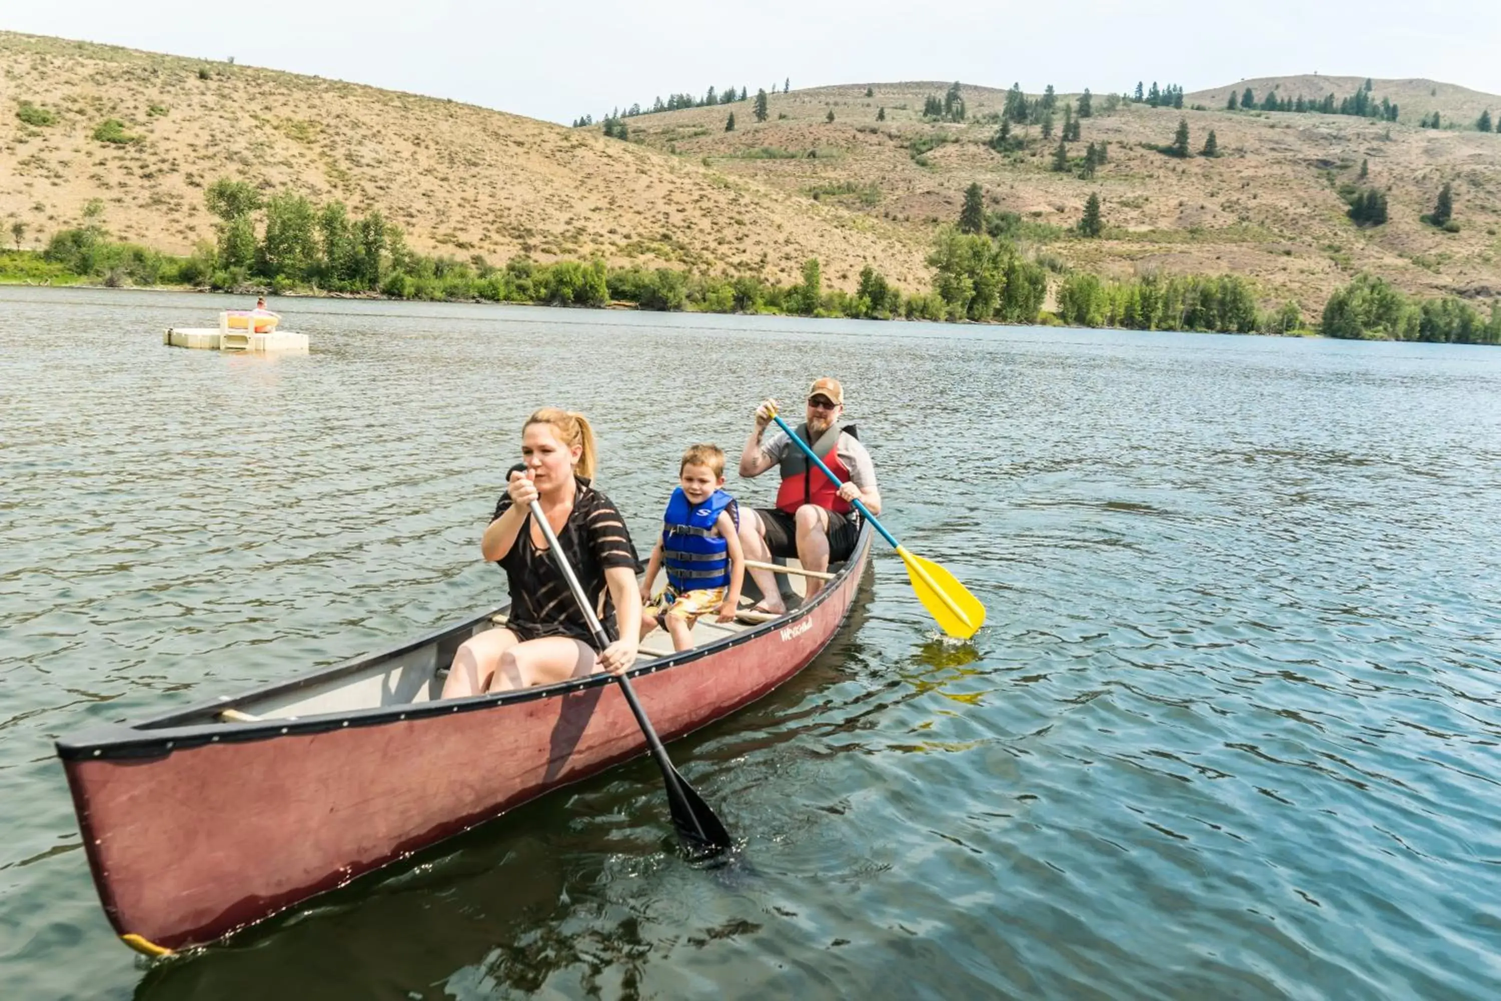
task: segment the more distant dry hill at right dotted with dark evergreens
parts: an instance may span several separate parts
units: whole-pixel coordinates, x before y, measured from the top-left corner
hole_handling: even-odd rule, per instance
[[[1258,99],[1336,99],[1363,78],[1288,77],[1247,80]],[[1001,155],[988,141],[1006,92],[964,86],[968,125],[925,122],[923,99],[941,96],[943,81],[797,90],[770,98],[770,119],[755,123],[749,104],[647,114],[627,119],[648,146],[708,162],[726,174],[818,197],[877,219],[931,231],[958,218],[962,192],[979,182],[994,210],[1028,224],[1025,239],[1045,254],[1114,276],[1148,270],[1240,273],[1264,296],[1297,297],[1319,309],[1324,297],[1358,270],[1372,270],[1421,294],[1501,294],[1501,135],[1474,131],[1480,111],[1501,113],[1501,98],[1418,81],[1373,81],[1373,98],[1402,108],[1393,125],[1333,114],[1223,111],[1232,87],[1187,95],[1183,111],[1094,95],[1094,117],[1082,123],[1079,158],[1088,143],[1109,143],[1109,159],[1094,180],[1051,170],[1057,149],[1039,129],[1024,152]],[[1061,101],[1076,96],[1060,96]],[[1205,105],[1195,111],[1190,105]],[[880,108],[886,122],[877,122]],[[735,131],[725,132],[728,110]],[[829,111],[835,122],[827,122]],[[1438,111],[1465,129],[1420,129]],[[1187,119],[1192,149],[1213,129],[1220,156],[1178,161],[1153,149],[1172,141]],[[1061,126],[1061,108],[1058,116]],[[925,143],[950,140],[922,153]],[[1345,216],[1340,183],[1357,183],[1361,161],[1369,180],[1388,192],[1390,222],[1360,230]],[[1454,186],[1457,234],[1418,221],[1432,210],[1444,182]],[[1090,192],[1103,200],[1108,239],[1085,240],[1069,230]]]

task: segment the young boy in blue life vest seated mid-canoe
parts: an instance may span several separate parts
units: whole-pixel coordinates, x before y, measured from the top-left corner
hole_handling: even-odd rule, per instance
[[[656,626],[672,633],[674,650],[693,647],[693,623],[716,612],[728,623],[740,603],[746,561],[740,551],[740,509],[723,491],[725,453],[719,446],[695,444],[683,453],[678,488],[662,516],[662,537],[651,549],[641,578],[641,635]],[[651,582],[666,567],[666,590],[651,600]]]

